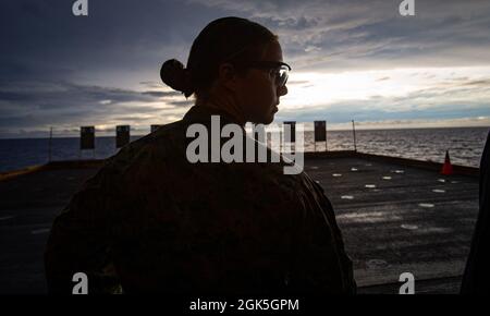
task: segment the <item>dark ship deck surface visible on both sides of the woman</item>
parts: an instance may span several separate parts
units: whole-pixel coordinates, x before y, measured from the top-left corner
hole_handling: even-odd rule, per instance
[[[478,212],[478,178],[442,177],[360,158],[309,158],[333,204],[359,293],[457,293]],[[97,168],[41,170],[0,181],[0,293],[46,293],[51,222]]]

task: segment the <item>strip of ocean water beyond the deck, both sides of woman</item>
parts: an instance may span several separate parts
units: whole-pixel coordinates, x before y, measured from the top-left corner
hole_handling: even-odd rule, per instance
[[[488,127],[446,127],[356,131],[358,151],[417,160],[444,161],[450,150],[456,165],[478,167]],[[132,136],[135,141],[140,136]],[[328,150],[354,149],[352,131],[328,131]],[[53,137],[51,160],[107,158],[114,155],[115,137],[96,137],[95,150],[79,150],[78,137]],[[324,142],[317,150],[326,150]],[[315,150],[314,133],[305,132],[305,150]],[[0,139],[0,172],[46,163],[49,160],[48,138]]]

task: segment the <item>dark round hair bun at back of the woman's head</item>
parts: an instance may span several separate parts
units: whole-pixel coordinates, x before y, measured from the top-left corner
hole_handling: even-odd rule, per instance
[[[176,59],[166,61],[160,69],[162,82],[174,90],[182,92],[185,97],[193,94],[188,70]]]

